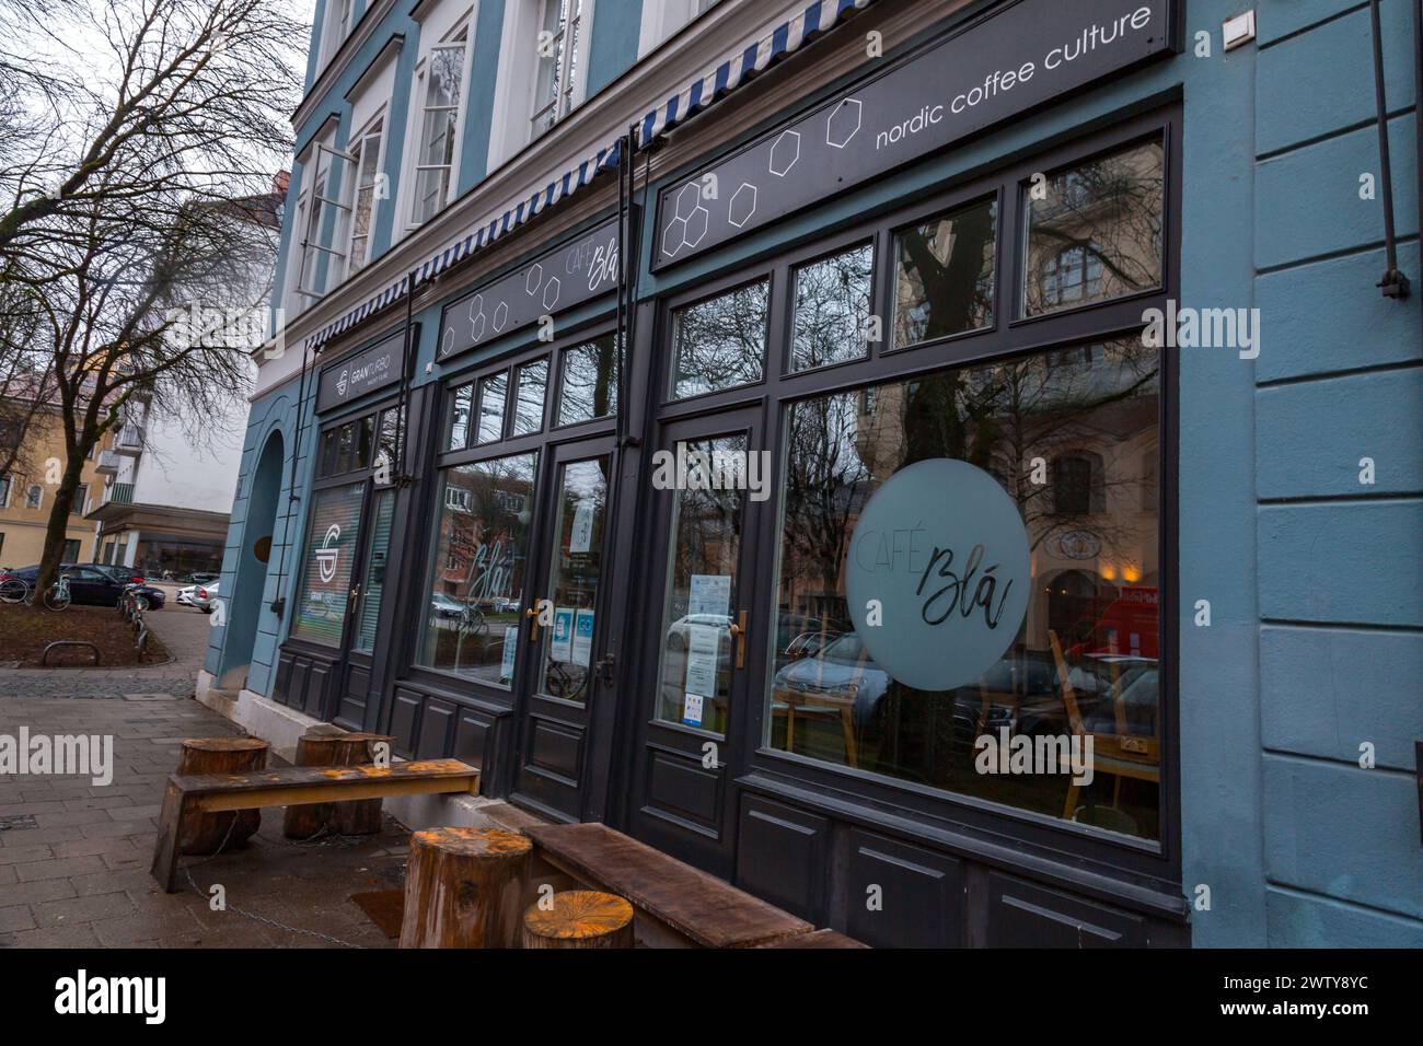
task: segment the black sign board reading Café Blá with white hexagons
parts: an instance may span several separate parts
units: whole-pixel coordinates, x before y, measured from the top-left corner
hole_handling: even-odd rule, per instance
[[[618,219],[575,236],[445,306],[437,359],[448,359],[618,286]]]

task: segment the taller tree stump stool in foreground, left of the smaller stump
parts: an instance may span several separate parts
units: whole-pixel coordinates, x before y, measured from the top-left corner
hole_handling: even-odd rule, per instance
[[[514,948],[534,844],[502,828],[410,835],[401,948]]]

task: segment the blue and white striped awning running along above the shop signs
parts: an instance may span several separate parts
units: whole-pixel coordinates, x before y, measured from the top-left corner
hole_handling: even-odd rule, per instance
[[[687,83],[677,94],[659,102],[640,120],[629,120],[625,125],[638,127],[638,144],[646,145],[669,128],[680,124],[713,105],[727,94],[744,85],[756,74],[773,63],[797,51],[801,46],[825,33],[850,14],[864,10],[875,0],[815,0],[795,17],[776,26],[770,33],[748,41],[714,68]],[[575,167],[555,178],[548,185],[519,198],[498,218],[471,231],[464,239],[445,248],[423,262],[413,273],[401,276],[384,290],[371,295],[361,305],[343,315],[334,323],[317,330],[306,339],[306,349],[319,349],[336,334],[350,330],[369,316],[388,309],[403,300],[414,286],[428,283],[451,265],[464,260],[504,238],[535,215],[542,213],[565,196],[576,192],[599,174],[618,165],[623,139],[619,135],[595,154],[585,157]]]

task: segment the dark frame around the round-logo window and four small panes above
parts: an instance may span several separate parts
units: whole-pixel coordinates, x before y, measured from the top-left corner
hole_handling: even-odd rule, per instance
[[[1181,242],[1181,108],[1177,101],[1168,101],[1151,110],[1123,115],[1107,127],[1087,130],[1081,134],[1067,134],[1054,139],[1036,154],[1015,158],[988,171],[970,172],[955,179],[945,189],[919,198],[908,205],[889,205],[867,212],[867,216],[845,225],[830,236],[805,239],[780,250],[771,258],[758,256],[748,263],[733,263],[729,269],[713,270],[699,276],[692,286],[673,289],[657,300],[655,333],[652,340],[652,389],[660,390],[650,397],[652,431],[660,431],[669,423],[707,414],[719,414],[741,407],[760,407],[771,450],[770,484],[774,495],[771,502],[778,518],[784,488],[784,445],[787,411],[791,403],[815,398],[835,391],[859,391],[918,374],[928,374],[946,367],[962,367],[975,363],[1003,361],[1020,356],[1039,356],[1052,350],[1079,347],[1084,343],[1111,340],[1114,337],[1138,336],[1143,329],[1141,313],[1147,307],[1164,307],[1168,297],[1178,297]],[[1093,158],[1123,151],[1136,144],[1160,141],[1163,145],[1163,216],[1161,216],[1161,283],[1128,296],[1106,302],[1062,309],[1040,316],[1020,317],[1023,286],[1020,273],[1026,258],[1026,211],[1023,186],[1033,174],[1063,171]],[[875,243],[875,270],[872,278],[871,315],[888,310],[891,287],[894,286],[892,235],[896,229],[951,212],[975,199],[986,199],[998,194],[998,228],[995,252],[995,307],[993,324],[982,330],[963,332],[946,337],[918,342],[902,349],[889,349],[891,317],[885,316],[884,337],[871,344],[871,354],[864,360],[847,360],[825,367],[803,371],[785,371],[790,359],[791,285],[788,269],[793,265],[818,256],[832,255],[844,246],[864,239]],[[734,248],[733,248],[734,249]],[[686,400],[672,400],[672,369],[675,346],[672,344],[672,313],[689,303],[714,297],[729,289],[770,278],[770,339],[764,377],[757,384],[739,386]],[[980,800],[959,793],[949,793],[919,786],[901,778],[889,778],[869,771],[821,763],[804,756],[764,747],[763,722],[766,714],[766,683],[750,685],[751,704],[741,723],[731,727],[731,778],[756,781],[758,788],[784,788],[785,796],[801,803],[821,805],[847,821],[864,818],[869,808],[899,818],[901,828],[909,835],[926,841],[955,845],[963,844],[972,835],[1003,835],[1009,831],[1026,852],[1091,867],[1120,881],[1123,877],[1137,881],[1148,891],[1177,892],[1181,881],[1181,838],[1180,838],[1180,744],[1178,744],[1178,679],[1180,656],[1177,630],[1178,613],[1178,545],[1177,545],[1177,481],[1178,481],[1178,434],[1175,431],[1178,400],[1178,359],[1174,352],[1163,350],[1158,394],[1158,467],[1157,467],[1157,512],[1160,579],[1160,663],[1161,663],[1161,784],[1160,784],[1160,841],[1136,840],[1127,835],[1106,833],[1089,825],[1080,825],[1047,814],[1020,810],[1002,803]],[[653,500],[656,504],[656,500]],[[649,509],[653,511],[655,509]],[[778,555],[774,544],[778,532],[774,525],[754,539],[763,542],[761,554]],[[746,605],[758,616],[774,609],[773,571],[763,571],[754,591],[747,593]],[[647,593],[643,601],[635,601],[643,613],[656,615],[662,593]],[[652,618],[647,618],[652,619]],[[753,618],[754,622],[754,618]],[[766,635],[747,650],[746,672],[753,680],[767,679],[767,656],[774,642],[774,629],[768,622],[754,623]],[[649,672],[656,670],[656,655],[638,652],[639,686],[650,686]],[[649,667],[650,666],[650,667]],[[635,699],[638,707],[626,713],[629,720],[647,717],[646,696]],[[814,788],[821,798],[811,798],[807,787]],[[882,827],[875,820],[864,820],[867,827]],[[1003,865],[1009,867],[1009,865]],[[1110,897],[1110,894],[1103,894]]]

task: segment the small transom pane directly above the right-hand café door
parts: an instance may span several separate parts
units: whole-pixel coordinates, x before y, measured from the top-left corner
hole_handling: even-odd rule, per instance
[[[675,317],[675,398],[761,380],[770,285],[739,287]]]

